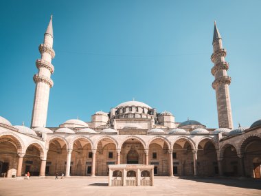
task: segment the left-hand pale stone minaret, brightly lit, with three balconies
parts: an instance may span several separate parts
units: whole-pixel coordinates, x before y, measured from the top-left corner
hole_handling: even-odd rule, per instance
[[[52,48],[53,41],[54,35],[51,16],[43,43],[38,47],[39,52],[41,53],[41,58],[36,60],[38,74],[34,75],[34,83],[36,83],[36,87],[34,92],[34,108],[32,111],[31,127],[46,126],[49,91],[54,85],[54,82],[51,79],[51,74],[54,73],[54,66],[51,62],[52,58],[55,56]]]

